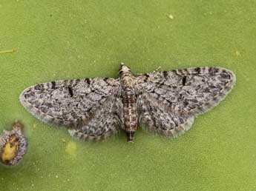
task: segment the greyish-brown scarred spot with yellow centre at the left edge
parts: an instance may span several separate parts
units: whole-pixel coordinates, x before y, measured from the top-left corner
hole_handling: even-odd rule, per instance
[[[22,134],[23,125],[13,123],[13,130],[4,130],[0,135],[0,161],[7,166],[18,164],[27,150],[27,141]]]

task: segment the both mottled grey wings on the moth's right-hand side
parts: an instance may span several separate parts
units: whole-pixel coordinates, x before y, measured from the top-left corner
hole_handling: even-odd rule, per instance
[[[166,136],[189,130],[194,117],[217,105],[232,90],[232,71],[197,67],[137,77],[140,124]]]

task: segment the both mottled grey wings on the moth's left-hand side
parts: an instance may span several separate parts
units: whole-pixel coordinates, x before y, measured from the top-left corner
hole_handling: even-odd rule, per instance
[[[119,98],[119,79],[84,78],[28,87],[20,101],[42,121],[70,127],[79,138],[97,139],[116,130]]]

